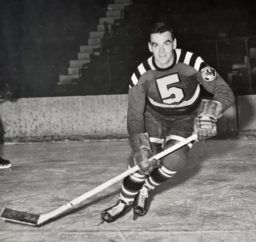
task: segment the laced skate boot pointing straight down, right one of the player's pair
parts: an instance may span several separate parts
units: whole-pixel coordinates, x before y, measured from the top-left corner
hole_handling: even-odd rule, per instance
[[[136,220],[138,216],[145,215],[146,199],[148,198],[148,192],[151,188],[143,185],[136,195],[133,203],[133,219]]]

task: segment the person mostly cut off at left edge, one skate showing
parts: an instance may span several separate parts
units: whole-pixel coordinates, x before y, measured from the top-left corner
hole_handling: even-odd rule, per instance
[[[9,87],[8,82],[4,81],[4,80],[0,80],[0,98],[2,99],[8,99],[13,95],[13,91],[11,90],[11,88]],[[4,144],[4,140],[3,140],[3,136],[4,136],[4,129],[3,127],[0,127],[0,133],[1,137],[0,137],[0,149],[2,151],[3,149],[3,144]],[[2,152],[1,152],[2,153]],[[10,168],[11,162],[9,160],[5,160],[3,158],[0,157],[0,169],[6,169],[6,168]]]

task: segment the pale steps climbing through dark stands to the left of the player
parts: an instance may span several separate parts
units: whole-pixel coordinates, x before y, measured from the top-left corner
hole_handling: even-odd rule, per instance
[[[90,63],[90,54],[100,55],[101,39],[105,34],[105,22],[108,23],[108,29],[112,31],[112,25],[118,19],[122,18],[122,11],[125,6],[131,5],[131,0],[115,0],[114,4],[108,4],[106,17],[99,18],[97,24],[97,31],[89,33],[88,44],[81,45],[76,60],[69,62],[68,75],[60,75],[58,85],[65,85],[73,83],[72,80],[79,78],[79,69],[86,68],[85,64]]]

